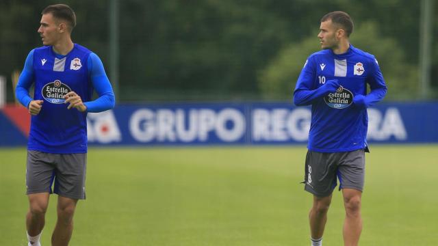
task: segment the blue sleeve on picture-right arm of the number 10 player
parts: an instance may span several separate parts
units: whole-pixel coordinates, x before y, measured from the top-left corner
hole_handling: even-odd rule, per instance
[[[355,96],[353,98],[356,105],[362,107],[371,107],[377,102],[381,101],[387,92],[387,86],[385,84],[385,79],[383,79],[383,74],[381,69],[378,67],[378,62],[376,59],[371,62],[372,73],[367,79],[367,83],[370,85],[370,93],[366,96]]]

